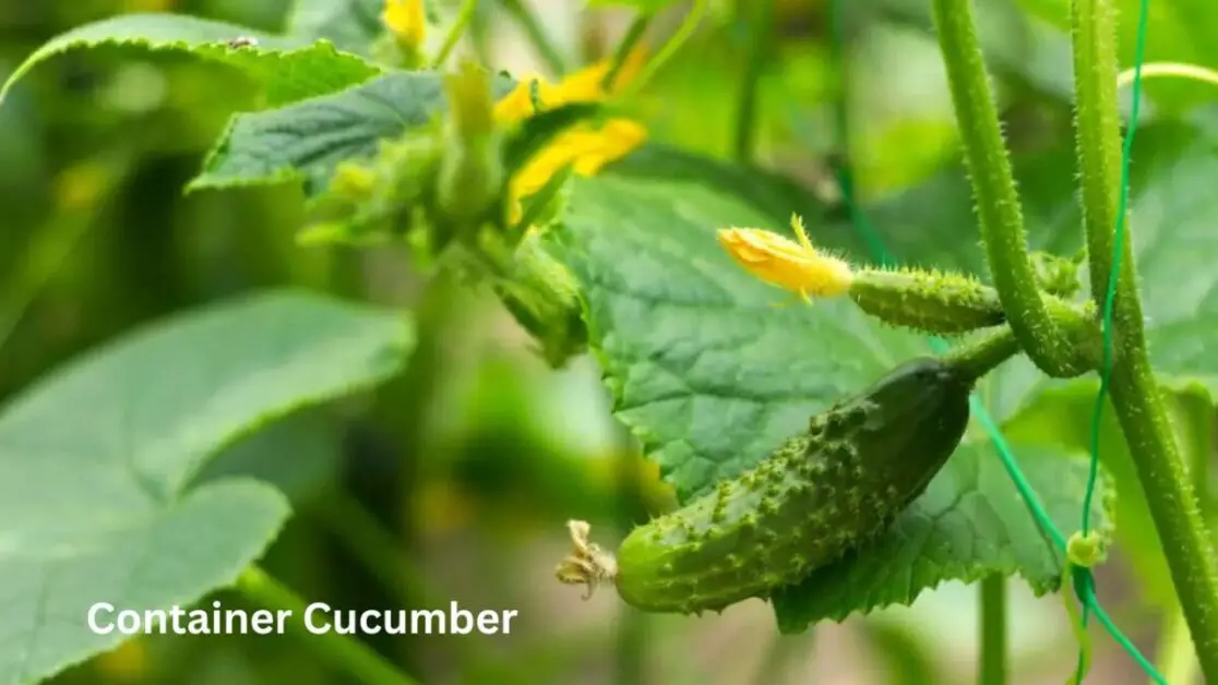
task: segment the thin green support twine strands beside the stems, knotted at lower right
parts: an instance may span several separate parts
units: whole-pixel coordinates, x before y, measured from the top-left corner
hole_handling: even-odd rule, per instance
[[[1002,462],[1002,467],[1006,470],[1007,476],[1015,484],[1015,488],[1019,492],[1023,498],[1024,505],[1028,507],[1028,512],[1035,521],[1037,527],[1044,534],[1051,546],[1056,548],[1060,554],[1066,557],[1065,568],[1062,569],[1062,600],[1066,603],[1067,612],[1071,614],[1071,628],[1074,631],[1075,638],[1079,642],[1079,658],[1078,667],[1072,678],[1072,683],[1080,684],[1090,667],[1091,661],[1091,640],[1086,633],[1086,622],[1090,614],[1095,614],[1096,621],[1099,621],[1108,635],[1117,641],[1121,647],[1129,653],[1130,657],[1141,667],[1147,676],[1151,678],[1157,684],[1167,685],[1167,680],[1163,678],[1155,666],[1142,656],[1142,653],[1129,641],[1128,638],[1108,617],[1104,607],[1100,606],[1099,599],[1095,596],[1095,577],[1091,574],[1091,566],[1100,561],[1100,555],[1097,554],[1097,544],[1093,534],[1089,534],[1090,524],[1090,511],[1091,501],[1095,495],[1095,483],[1099,476],[1099,434],[1100,434],[1100,417],[1104,408],[1105,393],[1107,391],[1108,377],[1112,370],[1112,304],[1116,296],[1117,288],[1117,274],[1121,269],[1121,247],[1124,238],[1124,217],[1125,207],[1128,203],[1128,174],[1129,174],[1129,152],[1133,145],[1134,130],[1138,123],[1138,106],[1141,100],[1141,66],[1142,55],[1145,47],[1145,35],[1146,35],[1146,17],[1149,0],[1142,0],[1141,13],[1138,23],[1138,50],[1136,50],[1136,67],[1133,82],[1133,117],[1129,123],[1129,133],[1124,141],[1124,153],[1122,158],[1122,184],[1121,184],[1121,206],[1118,212],[1117,230],[1116,230],[1116,245],[1113,246],[1113,268],[1112,274],[1108,279],[1107,298],[1105,301],[1104,308],[1104,365],[1100,377],[1100,392],[1096,397],[1095,411],[1093,414],[1091,421],[1091,462],[1090,472],[1086,483],[1086,492],[1084,495],[1083,504],[1083,530],[1082,533],[1075,533],[1069,541],[1061,530],[1054,524],[1049,513],[1045,511],[1044,505],[1040,504],[1040,499],[1037,493],[1032,489],[1032,484],[1028,483],[1027,477],[1019,470],[1019,465],[1016,462],[1015,455],[1011,450],[1010,444],[1002,436],[1001,428],[987,411],[985,406],[982,404],[980,399],[973,394],[970,398],[970,406],[972,408],[973,416],[982,425],[985,432],[989,434],[990,442],[994,443],[994,449],[998,453],[999,460]],[[844,50],[843,50],[843,37],[844,37],[844,15],[845,15],[845,0],[831,0],[829,11],[832,12],[832,45],[831,45],[831,58],[838,64],[838,78],[840,79],[838,99],[836,103],[834,112],[834,124],[836,124],[836,139],[839,146],[839,164],[834,169],[838,180],[838,187],[842,192],[842,202],[849,213],[850,223],[859,231],[864,242],[867,243],[868,249],[872,253],[872,258],[879,260],[884,265],[894,265],[895,259],[892,253],[885,248],[883,240],[879,237],[878,231],[867,221],[866,217],[860,212],[857,202],[855,200],[854,180],[850,173],[848,145],[849,145],[849,131],[848,131],[848,97],[847,97],[847,77],[844,69]],[[944,353],[949,349],[946,341],[937,337],[929,338],[931,348],[937,353]],[[1069,590],[1073,590],[1071,593]],[[1069,595],[1073,594],[1079,605],[1082,606],[1082,612],[1071,601]]]

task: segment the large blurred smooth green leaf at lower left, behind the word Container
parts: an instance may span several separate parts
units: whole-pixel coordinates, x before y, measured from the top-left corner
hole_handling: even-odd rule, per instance
[[[0,683],[118,645],[94,602],[189,605],[233,583],[289,515],[250,478],[188,483],[259,423],[369,388],[413,342],[395,314],[278,292],[93,352],[0,414]]]

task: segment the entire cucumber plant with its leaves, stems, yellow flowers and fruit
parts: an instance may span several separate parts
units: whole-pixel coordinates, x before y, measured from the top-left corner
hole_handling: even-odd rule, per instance
[[[784,633],[909,605],[950,580],[987,588],[983,613],[1002,600],[995,580],[1011,575],[1038,595],[1061,590],[1067,562],[1078,560],[1067,558],[1065,544],[1045,539],[1024,507],[1028,492],[1002,472],[984,434],[970,429],[977,425],[971,415],[979,420],[976,408],[988,405],[987,416],[991,411],[1009,432],[1051,523],[1069,532],[1085,517],[1094,533],[1084,545],[1089,563],[1113,540],[1145,555],[1135,560],[1144,582],[1174,589],[1163,605],[1183,612],[1202,670],[1218,681],[1218,574],[1194,487],[1203,482],[1207,460],[1196,456],[1203,440],[1181,437],[1196,421],[1197,404],[1213,410],[1218,366],[1199,350],[1216,330],[1207,293],[1218,279],[1199,269],[1185,286],[1175,282],[1178,262],[1218,245],[1203,231],[1174,235],[1168,219],[1146,226],[1151,243],[1116,240],[1122,209],[1112,0],[1069,4],[1077,145],[1013,162],[971,0],[932,2],[965,165],[963,173],[864,208],[888,242],[906,248],[898,256],[904,266],[872,265],[881,259],[839,208],[753,162],[761,47],[770,39],[761,19],[772,18],[770,0],[749,15],[754,49],[732,162],[647,142],[650,122],[633,107],[655,95],[661,67],[671,66],[699,22],[722,21],[722,12],[697,0],[665,44],[639,50],[667,2],[619,4],[635,6],[637,18],[613,55],[554,83],[457,54],[476,11],[473,0],[451,16],[425,12],[419,0],[302,0],[280,34],[183,15],[128,15],[79,27],[29,56],[0,89],[0,102],[40,62],[96,46],[223,64],[261,99],[219,131],[190,192],[297,185],[308,214],[302,249],[398,246],[429,275],[458,274],[495,293],[553,366],[591,354],[616,419],[660,465],[680,506],[638,522],[614,554],[593,543],[590,526],[572,512],[575,550],[559,567],[564,582],[611,582],[622,600],[652,612],[722,610],[764,597]],[[519,4],[513,7],[527,19]],[[380,21],[357,21],[369,12]],[[437,27],[441,40],[431,40]],[[560,67],[555,50],[542,52]],[[1134,185],[1147,206],[1194,207],[1195,223],[1208,225],[1218,210],[1212,193],[1177,197],[1166,189],[1180,169],[1200,176],[1218,170],[1212,135],[1172,118],[1141,134],[1139,150],[1149,162]],[[1075,221],[1062,229],[1023,210],[1047,207],[1044,215],[1073,217],[1072,187],[1024,183],[1030,190],[1023,197],[1015,190],[1017,180],[1075,163],[1083,246],[1071,232]],[[789,236],[769,230],[792,215]],[[974,224],[979,252],[970,237]],[[910,225],[920,231],[899,230]],[[945,243],[934,245],[935,231],[950,231]],[[1074,247],[1085,248],[1086,296],[1080,262],[1060,254]],[[1121,277],[1110,331],[1101,321],[1112,273]],[[790,305],[778,302],[784,296]],[[296,322],[295,365],[256,354],[275,346],[275,332],[263,324],[280,319],[268,314]],[[48,579],[35,562],[55,558],[73,578],[105,583],[110,575],[99,569],[118,560],[69,543],[105,533],[116,545],[138,545],[149,530],[162,530],[157,526],[180,533],[157,535],[162,546],[199,530],[223,538],[225,513],[236,509],[253,523],[225,538],[211,563],[189,574],[143,569],[152,590],[133,599],[163,608],[235,584],[268,607],[295,606],[291,593],[255,565],[289,515],[283,498],[264,483],[191,489],[189,476],[267,417],[398,372],[413,342],[409,313],[402,318],[371,305],[255,301],[168,322],[161,337],[133,339],[83,361],[67,380],[32,388],[0,415],[0,445],[12,448],[0,450],[0,488],[19,482],[39,493],[56,483],[49,468],[32,473],[28,464],[67,460],[29,447],[66,444],[34,439],[57,429],[48,408],[77,402],[82,388],[107,405],[122,386],[114,369],[194,349],[184,341],[214,339],[222,324],[248,326],[268,341],[246,366],[234,364],[233,374],[200,382],[197,397],[147,400],[167,412],[161,425],[180,439],[158,439],[151,429],[138,436],[133,449],[147,492],[124,500],[123,511],[138,512],[139,526],[99,530],[85,506],[72,511],[68,526],[54,527],[49,518],[9,523],[29,496],[4,490],[12,496],[0,498],[0,510],[21,549],[0,550],[0,586],[41,586],[40,595],[62,595],[57,611],[83,616],[86,593],[62,579],[72,574]],[[928,358],[924,333],[959,344]],[[268,367],[275,370],[266,376],[274,392],[242,384]],[[315,374],[319,367],[328,371]],[[1093,389],[1095,372],[1110,367],[1118,419],[1110,436],[1123,437],[1117,443],[1125,449],[1099,468],[1093,499],[1083,485],[1091,472],[1085,438],[1065,426],[1047,436],[1038,427],[1067,414],[1071,393]],[[157,383],[150,372],[140,387],[162,388],[150,391],[153,399],[172,391]],[[201,412],[192,422],[194,404],[222,400],[236,409]],[[93,419],[73,428],[76,444],[104,440],[122,420],[112,412]],[[1184,450],[1194,465],[1188,472]],[[95,466],[112,476],[124,464]],[[73,468],[63,472],[84,478]],[[149,498],[157,504],[151,513]],[[966,504],[977,501],[984,512]],[[181,507],[190,511],[186,523]],[[1142,526],[1117,529],[1118,507],[1122,521]],[[1157,551],[1147,537],[1161,540]],[[63,556],[65,549],[76,551]],[[234,568],[246,571],[234,577]],[[28,635],[26,647],[0,652],[2,683],[44,679],[122,640],[91,634],[83,623],[52,625],[28,602],[0,603],[4,623]],[[996,616],[998,625],[982,622],[998,635],[983,639],[982,674],[1001,684]],[[413,681],[356,640],[331,635],[325,645],[318,656],[354,678]]]

